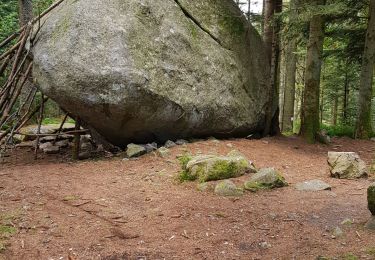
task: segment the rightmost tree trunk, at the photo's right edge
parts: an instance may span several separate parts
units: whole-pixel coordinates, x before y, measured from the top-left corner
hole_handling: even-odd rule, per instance
[[[375,62],[375,0],[370,0],[365,50],[362,56],[361,81],[359,86],[359,114],[355,137],[366,139],[372,134],[371,98]]]

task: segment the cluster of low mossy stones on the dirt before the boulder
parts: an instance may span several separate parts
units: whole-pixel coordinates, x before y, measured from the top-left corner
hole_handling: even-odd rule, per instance
[[[254,164],[238,151],[226,156],[198,155],[181,156],[180,181],[199,182],[198,190],[214,191],[219,196],[241,196],[245,191],[281,188],[288,185],[285,178],[274,168],[257,170]],[[241,186],[231,178],[252,174]],[[219,181],[219,182],[215,182]]]

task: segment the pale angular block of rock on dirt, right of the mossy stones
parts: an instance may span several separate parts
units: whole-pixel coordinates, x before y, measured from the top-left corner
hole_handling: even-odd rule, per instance
[[[366,163],[354,152],[328,152],[331,176],[339,179],[367,177]]]

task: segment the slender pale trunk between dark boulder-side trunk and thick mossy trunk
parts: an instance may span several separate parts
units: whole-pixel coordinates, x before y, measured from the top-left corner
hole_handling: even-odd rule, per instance
[[[296,0],[290,1],[291,17],[295,19],[296,15]],[[296,93],[296,71],[297,71],[297,39],[291,39],[285,48],[286,68],[285,68],[285,89],[284,89],[284,105],[282,126],[283,132],[293,131],[294,122],[294,102]]]

